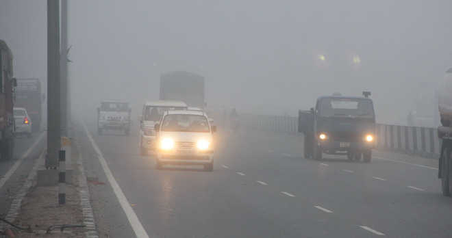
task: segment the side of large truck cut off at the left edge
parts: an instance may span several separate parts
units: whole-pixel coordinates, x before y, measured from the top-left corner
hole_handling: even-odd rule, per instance
[[[12,53],[0,40],[0,154],[1,159],[14,155],[14,88],[17,81],[12,77]]]

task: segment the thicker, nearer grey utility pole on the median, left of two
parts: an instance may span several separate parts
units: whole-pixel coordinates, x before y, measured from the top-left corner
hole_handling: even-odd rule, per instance
[[[46,168],[57,168],[60,139],[60,2],[47,0],[47,157]]]

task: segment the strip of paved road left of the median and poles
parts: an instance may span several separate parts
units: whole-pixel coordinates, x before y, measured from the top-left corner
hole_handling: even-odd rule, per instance
[[[21,189],[25,178],[33,168],[45,147],[45,133],[35,133],[32,138],[16,137],[14,158],[0,161],[0,215],[4,217],[10,209],[12,199]]]

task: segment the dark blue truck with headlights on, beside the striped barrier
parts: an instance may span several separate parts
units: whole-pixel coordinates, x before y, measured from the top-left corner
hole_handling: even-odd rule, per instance
[[[305,158],[322,159],[323,153],[347,155],[370,162],[375,147],[373,101],[364,97],[321,96],[316,107],[299,111],[299,132],[305,134]]]

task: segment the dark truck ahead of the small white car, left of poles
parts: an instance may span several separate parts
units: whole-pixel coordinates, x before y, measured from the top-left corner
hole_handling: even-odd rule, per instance
[[[27,109],[27,114],[32,118],[32,131],[34,132],[40,130],[44,98],[39,79],[17,79],[14,107]]]

